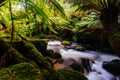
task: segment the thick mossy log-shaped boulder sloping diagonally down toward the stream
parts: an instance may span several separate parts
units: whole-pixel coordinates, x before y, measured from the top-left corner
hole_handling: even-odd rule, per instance
[[[27,41],[14,42],[13,47],[20,52],[26,59],[34,61],[40,68],[48,67],[41,52],[31,43]]]

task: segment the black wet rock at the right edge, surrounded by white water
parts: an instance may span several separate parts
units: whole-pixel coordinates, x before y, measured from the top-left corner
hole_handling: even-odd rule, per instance
[[[102,66],[113,75],[120,75],[120,60],[114,59],[110,62],[103,62]]]

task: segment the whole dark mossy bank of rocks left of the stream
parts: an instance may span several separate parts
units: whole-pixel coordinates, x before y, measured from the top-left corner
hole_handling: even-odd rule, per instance
[[[54,70],[43,40],[0,42],[0,80],[87,80],[80,72]]]

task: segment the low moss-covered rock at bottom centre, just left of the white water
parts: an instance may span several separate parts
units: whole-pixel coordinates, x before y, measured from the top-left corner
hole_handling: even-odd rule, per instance
[[[74,70],[58,70],[59,80],[88,80],[82,73]]]

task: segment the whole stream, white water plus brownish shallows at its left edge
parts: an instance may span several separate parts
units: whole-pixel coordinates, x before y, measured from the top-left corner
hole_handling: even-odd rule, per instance
[[[74,62],[77,62],[78,64],[86,63],[87,66],[84,66],[84,75],[88,80],[120,80],[119,76],[114,76],[102,67],[104,62],[109,62],[115,59],[119,60],[119,57],[91,50],[85,50],[85,52],[82,52],[75,50],[73,48],[75,46],[78,46],[78,44],[72,43],[71,46],[66,47],[58,40],[48,42],[47,50],[52,49],[55,53],[60,53],[62,60],[64,60],[57,67],[58,69],[71,69],[70,65]]]

